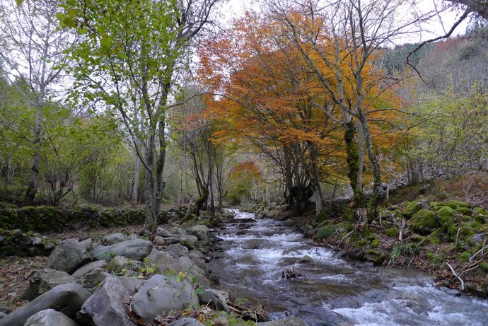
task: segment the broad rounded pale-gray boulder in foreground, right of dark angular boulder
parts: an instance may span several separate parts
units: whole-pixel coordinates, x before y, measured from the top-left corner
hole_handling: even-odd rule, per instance
[[[168,315],[170,311],[182,310],[197,303],[192,284],[161,274],[148,279],[131,302],[134,312],[146,322],[157,315]]]

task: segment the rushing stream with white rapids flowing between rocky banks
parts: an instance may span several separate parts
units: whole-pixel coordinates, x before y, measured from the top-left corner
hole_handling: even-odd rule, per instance
[[[229,211],[243,222],[220,231],[223,257],[211,269],[224,290],[265,305],[272,319],[294,315],[310,326],[488,325],[487,301],[446,294],[422,272],[339,259],[278,221]],[[298,263],[305,255],[313,262]],[[302,276],[284,279],[286,269]]]

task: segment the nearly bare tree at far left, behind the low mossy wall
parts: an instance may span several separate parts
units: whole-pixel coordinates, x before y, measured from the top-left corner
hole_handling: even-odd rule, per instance
[[[1,1],[0,58],[4,76],[23,96],[25,105],[35,112],[30,124],[33,161],[32,175],[25,192],[25,204],[32,204],[39,187],[42,120],[45,105],[55,98],[54,85],[62,77],[66,58],[62,54],[74,39],[57,28],[56,13],[60,1]],[[25,86],[23,88],[22,86]]]

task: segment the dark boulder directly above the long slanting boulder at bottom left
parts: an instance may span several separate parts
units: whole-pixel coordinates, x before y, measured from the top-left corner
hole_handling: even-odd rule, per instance
[[[43,268],[30,274],[29,287],[23,294],[23,298],[33,300],[58,285],[74,282],[76,282],[74,277],[66,272]]]

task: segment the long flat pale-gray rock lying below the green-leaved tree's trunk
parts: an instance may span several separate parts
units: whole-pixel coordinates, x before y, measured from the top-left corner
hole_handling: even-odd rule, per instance
[[[98,260],[110,260],[112,255],[124,256],[132,260],[143,260],[153,250],[151,241],[136,239],[127,240],[115,245],[100,245],[93,249],[92,255]]]

